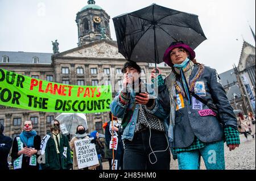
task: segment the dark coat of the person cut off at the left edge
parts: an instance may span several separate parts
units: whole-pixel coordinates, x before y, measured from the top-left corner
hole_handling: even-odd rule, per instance
[[[3,125],[1,125],[0,129],[1,132],[3,132]],[[13,144],[13,140],[10,137],[4,136],[2,133],[0,133],[0,170],[9,170],[7,157],[11,150],[11,144]]]

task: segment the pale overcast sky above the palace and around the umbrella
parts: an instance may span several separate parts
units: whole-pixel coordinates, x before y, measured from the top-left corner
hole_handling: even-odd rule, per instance
[[[95,0],[114,18],[156,3],[199,15],[207,40],[195,49],[196,59],[218,73],[240,59],[243,39],[255,47],[255,0]],[[60,52],[77,47],[76,14],[87,0],[0,0],[0,51],[51,53],[55,39]],[[115,31],[110,20],[112,39]]]

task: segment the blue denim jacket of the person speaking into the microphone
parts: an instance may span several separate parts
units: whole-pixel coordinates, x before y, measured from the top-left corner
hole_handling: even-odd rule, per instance
[[[148,113],[150,113],[151,115],[154,115],[163,121],[166,135],[168,135],[167,131],[168,131],[169,123],[167,123],[168,119],[166,119],[166,117],[168,117],[169,113],[164,111],[162,104],[159,103],[158,95],[156,95],[156,91],[154,90],[154,85],[148,84],[148,83],[143,83],[143,84],[144,84],[144,86],[147,87],[148,94],[150,94],[150,96],[154,96],[154,98],[155,98],[155,106],[152,107],[151,110],[147,106],[145,106],[146,111]],[[121,92],[119,92],[115,96],[113,102],[110,104],[110,110],[114,116],[116,116],[118,118],[123,118],[123,114],[125,113],[126,105],[123,105],[120,102],[119,94],[121,94]],[[129,94],[130,94],[130,102],[127,105],[127,109],[131,109],[135,104],[135,92],[131,91]],[[131,117],[131,120],[129,121],[125,130],[123,131],[122,140],[126,139],[129,141],[133,141],[135,125],[137,123],[137,117],[138,117],[138,112],[139,112],[139,106],[140,106],[139,104],[136,105],[134,112],[133,112],[133,116]]]

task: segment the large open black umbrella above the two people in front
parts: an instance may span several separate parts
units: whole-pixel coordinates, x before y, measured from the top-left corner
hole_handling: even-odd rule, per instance
[[[192,49],[206,40],[197,15],[152,4],[113,18],[119,53],[126,60],[160,64],[173,41]]]

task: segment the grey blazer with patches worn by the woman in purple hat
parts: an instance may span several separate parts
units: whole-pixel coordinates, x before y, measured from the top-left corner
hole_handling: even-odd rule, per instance
[[[189,81],[194,77],[198,68],[199,66],[195,65]],[[175,112],[173,145],[175,148],[186,148],[190,146],[195,136],[199,140],[207,143],[221,141],[224,140],[224,127],[230,126],[237,129],[236,116],[226,97],[224,87],[220,83],[217,71],[205,66],[203,73],[196,82],[203,82],[205,93],[203,96],[200,96],[217,107],[220,120],[213,115],[202,116],[204,113],[200,115],[200,110],[209,110],[209,107],[200,103],[201,107],[197,110],[193,107],[193,103],[189,105],[188,100],[184,98],[184,108],[180,108]],[[160,87],[159,90],[160,103],[165,110],[170,110],[170,100],[167,99],[170,95],[166,85]]]

